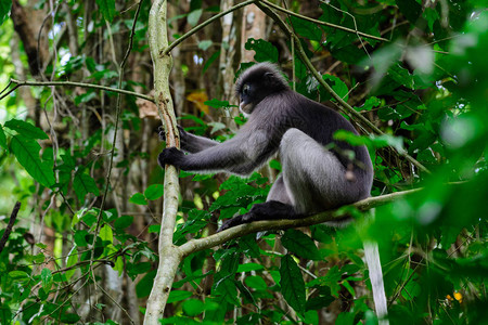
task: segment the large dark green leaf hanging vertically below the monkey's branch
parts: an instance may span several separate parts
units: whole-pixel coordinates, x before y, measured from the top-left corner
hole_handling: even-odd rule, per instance
[[[305,313],[305,283],[298,265],[292,256],[286,255],[281,259],[280,286],[283,298],[301,315]]]

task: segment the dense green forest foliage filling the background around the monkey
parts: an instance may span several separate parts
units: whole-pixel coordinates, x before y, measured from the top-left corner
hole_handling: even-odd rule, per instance
[[[348,117],[362,135],[337,134],[369,146],[372,196],[423,190],[376,208],[374,218],[352,211],[358,220],[344,229],[259,233],[189,256],[163,323],[375,324],[362,251],[371,239],[380,246],[390,324],[486,323],[488,1],[275,3],[297,14],[277,11],[322,78],[385,133]],[[169,1],[170,39],[233,4]],[[118,88],[132,38],[121,88],[151,95],[150,5],[0,2],[0,236],[14,202],[22,203],[0,252],[1,324],[142,320],[164,193],[155,106],[125,95],[113,147],[114,92],[66,84],[11,91],[9,80]],[[297,92],[335,107],[295,51],[256,6],[198,30],[172,51],[180,125],[219,141],[232,136],[245,121],[232,84],[251,62],[280,64]],[[403,150],[431,172],[398,154]],[[273,159],[249,179],[181,172],[175,244],[213,234],[221,219],[264,202],[279,171]]]

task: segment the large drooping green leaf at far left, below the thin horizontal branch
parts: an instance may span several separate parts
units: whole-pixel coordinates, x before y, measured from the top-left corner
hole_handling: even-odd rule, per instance
[[[23,135],[13,135],[10,142],[12,153],[25,170],[41,185],[49,187],[54,184],[54,172],[48,161],[39,158],[40,145],[35,140]]]

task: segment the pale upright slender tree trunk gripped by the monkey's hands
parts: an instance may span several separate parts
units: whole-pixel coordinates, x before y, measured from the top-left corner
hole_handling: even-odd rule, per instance
[[[172,60],[169,54],[159,54],[159,49],[168,48],[166,15],[167,1],[155,0],[149,16],[149,44],[154,66],[154,98],[160,119],[164,122],[167,145],[179,147],[179,134],[169,91]],[[158,238],[159,263],[144,316],[144,324],[151,325],[159,324],[158,320],[163,317],[172,282],[182,258],[177,247],[172,245],[180,188],[178,171],[171,165],[166,165],[165,168],[164,188],[163,220]]]

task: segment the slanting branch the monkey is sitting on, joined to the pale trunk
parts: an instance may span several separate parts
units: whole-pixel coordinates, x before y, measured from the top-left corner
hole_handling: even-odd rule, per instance
[[[208,249],[231,239],[243,237],[247,234],[271,231],[271,230],[284,230],[290,227],[308,226],[312,224],[323,223],[326,221],[337,221],[347,216],[349,216],[349,208],[355,208],[360,211],[365,211],[374,207],[383,206],[391,203],[398,198],[406,197],[413,193],[421,191],[422,188],[396,192],[391,194],[386,194],[382,196],[368,197],[363,200],[357,202],[352,205],[341,207],[336,210],[324,211],[311,217],[304,219],[283,219],[283,220],[271,220],[271,221],[256,221],[252,223],[241,224],[223,232],[210,235],[205,238],[192,239],[181,245],[178,249],[181,255],[187,257],[188,255],[204,249]]]

